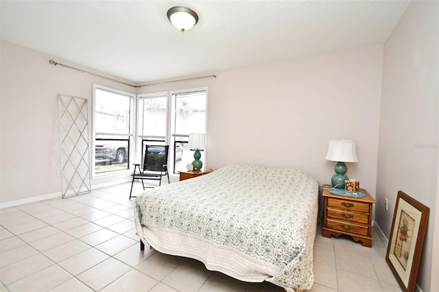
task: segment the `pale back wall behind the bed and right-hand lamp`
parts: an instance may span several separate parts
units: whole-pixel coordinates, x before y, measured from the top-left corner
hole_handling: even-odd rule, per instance
[[[347,175],[375,196],[382,46],[213,72],[216,79],[148,86],[141,93],[209,86],[207,166],[296,167],[328,183],[329,140],[357,140]]]

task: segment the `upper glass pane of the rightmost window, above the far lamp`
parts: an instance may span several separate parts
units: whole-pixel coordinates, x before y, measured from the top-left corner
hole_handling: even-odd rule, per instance
[[[206,131],[206,92],[174,95],[176,98],[176,134],[204,133]]]

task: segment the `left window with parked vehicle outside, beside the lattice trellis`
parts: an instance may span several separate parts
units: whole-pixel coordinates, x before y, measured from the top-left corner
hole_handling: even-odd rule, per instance
[[[94,85],[95,173],[129,169],[135,95]]]

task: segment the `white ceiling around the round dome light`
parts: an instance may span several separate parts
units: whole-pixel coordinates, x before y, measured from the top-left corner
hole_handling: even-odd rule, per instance
[[[144,83],[382,44],[409,3],[1,0],[1,38]],[[189,32],[167,19],[177,5],[200,17]]]

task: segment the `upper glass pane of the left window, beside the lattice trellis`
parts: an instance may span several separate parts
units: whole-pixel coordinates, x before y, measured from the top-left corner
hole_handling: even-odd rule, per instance
[[[95,132],[102,134],[130,134],[130,96],[95,90]]]

